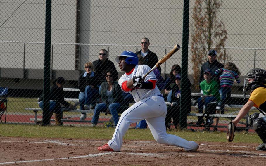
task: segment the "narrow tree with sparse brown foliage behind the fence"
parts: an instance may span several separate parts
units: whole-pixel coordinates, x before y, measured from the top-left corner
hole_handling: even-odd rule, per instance
[[[229,58],[224,49],[227,31],[217,15],[220,6],[221,3],[218,0],[196,0],[195,2],[191,42],[194,82],[199,80],[201,64],[207,60],[208,50],[214,48],[217,51],[217,60],[222,60],[222,63]]]

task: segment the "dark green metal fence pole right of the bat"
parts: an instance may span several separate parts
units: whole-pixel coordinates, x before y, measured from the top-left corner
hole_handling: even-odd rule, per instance
[[[180,128],[187,127],[187,112],[190,109],[189,96],[191,91],[189,90],[189,79],[187,77],[188,70],[188,45],[189,45],[189,0],[184,0],[183,9],[183,38],[182,38],[182,70],[181,70],[181,101],[180,101]],[[190,94],[189,94],[190,92]]]

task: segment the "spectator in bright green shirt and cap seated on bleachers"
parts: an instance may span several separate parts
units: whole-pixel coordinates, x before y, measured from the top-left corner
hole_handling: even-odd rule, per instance
[[[200,86],[203,91],[203,96],[198,98],[198,113],[203,113],[204,105],[207,106],[210,102],[220,101],[219,86],[217,82],[212,79],[210,69],[204,71],[204,80],[201,82]],[[202,123],[205,123],[203,117],[199,116],[196,126],[200,126]]]

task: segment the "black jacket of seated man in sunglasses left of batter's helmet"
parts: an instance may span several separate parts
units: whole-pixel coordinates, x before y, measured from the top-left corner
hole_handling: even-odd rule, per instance
[[[95,72],[97,73],[98,82],[97,85],[101,85],[102,82],[106,81],[105,75],[107,71],[112,71],[114,81],[118,79],[118,73],[115,68],[115,65],[110,60],[106,59],[102,62],[100,59],[92,62],[95,68]]]

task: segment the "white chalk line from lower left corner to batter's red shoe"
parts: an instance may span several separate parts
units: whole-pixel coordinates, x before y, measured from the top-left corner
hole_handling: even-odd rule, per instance
[[[25,163],[25,162],[42,162],[42,161],[52,161],[52,160],[69,160],[69,159],[75,159],[75,158],[89,158],[89,157],[98,157],[101,155],[111,155],[115,154],[112,152],[106,152],[106,153],[98,153],[98,154],[89,154],[84,156],[76,156],[76,157],[65,157],[65,158],[50,158],[50,159],[42,159],[42,160],[28,160],[28,161],[14,161],[14,162],[2,162],[0,165],[4,164],[19,164],[19,163]]]

